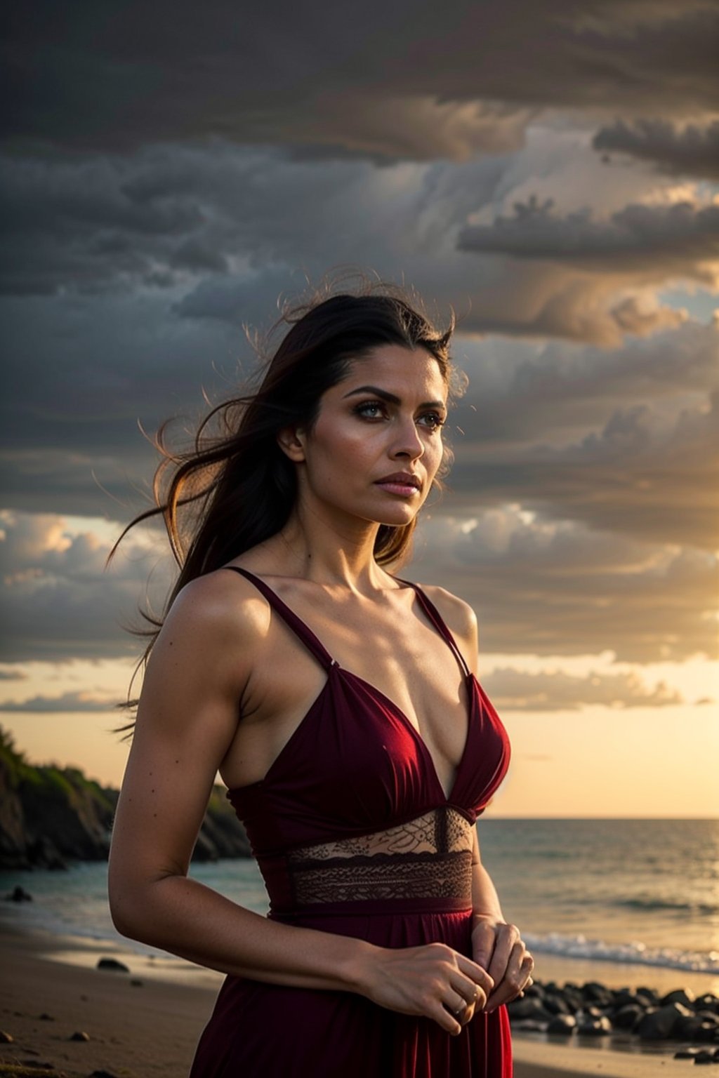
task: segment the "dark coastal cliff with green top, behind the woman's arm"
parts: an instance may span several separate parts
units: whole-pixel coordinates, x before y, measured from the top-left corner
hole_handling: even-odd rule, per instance
[[[64,869],[70,861],[105,860],[119,791],[77,768],[28,763],[0,728],[0,869]],[[193,860],[248,857],[245,829],[224,797],[212,790]]]

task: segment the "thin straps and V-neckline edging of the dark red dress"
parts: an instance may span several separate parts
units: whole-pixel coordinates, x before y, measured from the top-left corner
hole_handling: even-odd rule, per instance
[[[300,735],[300,731],[304,728],[309,716],[317,707],[321,706],[324,694],[327,693],[328,688],[330,686],[330,679],[333,674],[336,674],[344,678],[348,678],[351,681],[355,681],[357,685],[360,685],[365,691],[370,693],[370,695],[374,695],[375,697],[377,697],[379,703],[388,707],[389,710],[392,711],[397,716],[397,718],[399,718],[402,724],[410,731],[414,741],[419,746],[419,750],[425,756],[429,764],[429,770],[431,772],[434,785],[437,786],[438,791],[442,796],[442,801],[445,804],[451,804],[452,798],[454,796],[454,792],[457,788],[457,784],[459,780],[459,773],[467,758],[467,751],[469,748],[469,742],[471,736],[471,728],[475,715],[476,692],[480,689],[480,685],[474,674],[467,666],[467,663],[461,652],[459,651],[459,648],[457,647],[454,637],[452,636],[450,630],[445,625],[444,620],[441,618],[439,611],[437,610],[434,605],[430,602],[430,599],[428,599],[428,597],[425,595],[421,589],[417,584],[413,584],[409,581],[399,581],[400,583],[404,584],[405,588],[411,589],[415,593],[415,596],[419,600],[419,606],[423,612],[425,613],[425,617],[427,618],[430,627],[433,627],[435,630],[437,635],[444,640],[450,650],[454,653],[461,669],[465,690],[467,692],[467,702],[464,706],[467,720],[465,742],[462,745],[461,752],[459,755],[459,760],[457,761],[456,766],[453,769],[454,773],[451,778],[448,790],[445,790],[444,785],[440,779],[440,775],[437,770],[437,764],[434,763],[434,757],[430,752],[429,746],[427,745],[427,742],[423,737],[418,725],[415,725],[414,722],[412,722],[410,717],[399,706],[399,704],[397,704],[390,696],[384,693],[382,689],[378,689],[371,681],[368,681],[367,678],[363,678],[361,675],[355,674],[352,671],[348,671],[346,667],[341,666],[341,664],[336,661],[336,659],[334,659],[330,654],[330,652],[327,650],[322,641],[309,627],[309,625],[307,625],[307,623],[290,606],[288,606],[287,603],[285,603],[285,600],[277,594],[277,592],[275,592],[274,589],[272,589],[269,584],[267,584],[266,581],[264,581],[261,577],[258,577],[253,572],[250,572],[249,569],[243,569],[239,566],[235,565],[226,565],[224,566],[224,568],[232,569],[234,572],[239,573],[240,576],[245,577],[246,580],[249,580],[250,583],[254,584],[258,588],[258,591],[260,591],[260,593],[264,595],[271,608],[280,616],[280,618],[282,619],[282,621],[285,621],[288,628],[291,632],[293,632],[295,636],[299,637],[300,642],[303,644],[306,650],[308,650],[309,653],[313,655],[313,658],[320,663],[320,665],[324,668],[327,675],[324,685],[322,686],[319,693],[317,694],[317,696],[314,699],[314,701],[305,711],[304,716],[300,719],[298,725],[294,728],[289,738],[285,742],[285,745],[281,747],[281,749],[275,757],[273,762],[269,764],[264,776],[262,778],[257,779],[254,783],[247,783],[244,786],[233,787],[231,792],[235,792],[238,790],[246,790],[253,786],[260,786],[268,780],[273,771],[279,764],[280,760],[285,756],[286,751],[289,750],[292,742],[294,742],[294,740]],[[471,691],[470,691],[470,686],[471,686]]]

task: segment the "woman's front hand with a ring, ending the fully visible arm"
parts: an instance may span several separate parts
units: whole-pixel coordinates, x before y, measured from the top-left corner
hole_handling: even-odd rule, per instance
[[[363,995],[400,1014],[430,1018],[455,1035],[494,987],[485,969],[444,943],[377,948],[368,958],[359,987]]]

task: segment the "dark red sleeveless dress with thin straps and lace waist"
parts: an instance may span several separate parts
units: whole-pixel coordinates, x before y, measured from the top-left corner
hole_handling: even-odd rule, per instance
[[[440,941],[471,955],[478,815],[509,763],[499,718],[437,608],[426,618],[467,678],[469,725],[446,797],[429,750],[377,689],[342,669],[264,581],[266,597],[327,671],[327,682],[265,777],[230,790],[269,895],[268,916],[379,946]],[[459,1036],[351,992],[227,977],[191,1078],[511,1078],[503,1007]]]

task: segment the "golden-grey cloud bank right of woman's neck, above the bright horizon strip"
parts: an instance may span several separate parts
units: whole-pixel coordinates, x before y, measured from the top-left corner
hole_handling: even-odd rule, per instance
[[[435,513],[421,526],[411,575],[472,604],[484,654],[613,652],[636,663],[719,655],[714,554],[506,507],[466,521]]]

